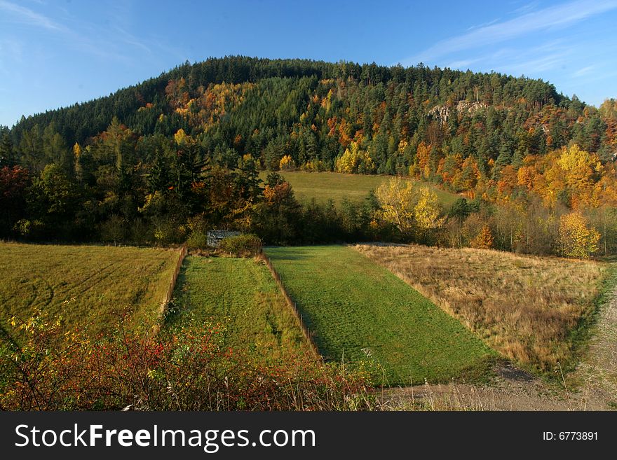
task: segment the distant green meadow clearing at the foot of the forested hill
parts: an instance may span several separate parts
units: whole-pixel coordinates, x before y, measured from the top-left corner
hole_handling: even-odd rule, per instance
[[[299,200],[311,200],[326,202],[330,198],[340,204],[344,197],[348,200],[359,202],[368,196],[370,190],[374,190],[391,176],[367,176],[365,174],[339,174],[336,172],[280,172],[288,181]],[[262,179],[266,179],[266,173],[262,173]],[[434,186],[440,202],[449,208],[458,198],[454,193],[440,190]]]

